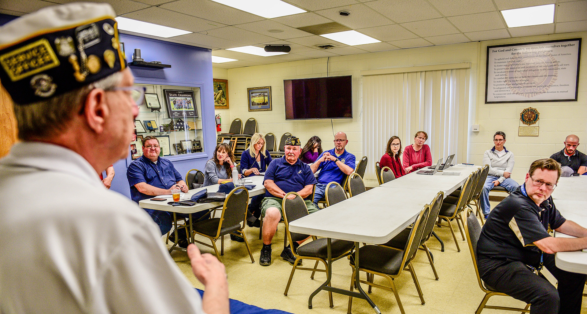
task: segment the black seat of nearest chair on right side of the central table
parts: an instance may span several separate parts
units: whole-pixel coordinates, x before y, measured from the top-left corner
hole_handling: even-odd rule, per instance
[[[359,268],[381,272],[387,275],[397,275],[402,267],[404,251],[381,247],[379,245],[365,245],[359,248]],[[355,256],[350,256],[350,264],[355,265]]]

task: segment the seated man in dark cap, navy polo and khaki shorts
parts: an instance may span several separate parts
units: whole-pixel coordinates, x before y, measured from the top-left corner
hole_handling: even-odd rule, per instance
[[[312,190],[316,184],[316,178],[310,167],[299,160],[302,153],[300,142],[297,137],[289,137],[285,141],[285,155],[281,158],[275,158],[271,161],[265,171],[263,185],[265,186],[265,198],[261,203],[261,215],[263,215],[263,248],[259,264],[271,265],[271,240],[277,231],[277,224],[281,220],[281,205],[285,194],[297,192],[306,202],[308,212],[318,211],[318,207],[313,204]],[[289,198],[294,199],[295,195]],[[294,249],[298,248],[302,242],[294,242]],[[295,262],[294,254],[288,246],[281,252],[281,257],[292,265]]]

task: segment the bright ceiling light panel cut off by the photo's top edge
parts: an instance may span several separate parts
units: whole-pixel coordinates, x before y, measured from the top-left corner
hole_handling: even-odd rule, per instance
[[[308,12],[293,6],[281,0],[212,0],[219,4],[232,6],[232,8],[239,9],[245,12],[253,13],[254,15],[263,16],[264,18],[272,19],[279,16],[286,16]]]

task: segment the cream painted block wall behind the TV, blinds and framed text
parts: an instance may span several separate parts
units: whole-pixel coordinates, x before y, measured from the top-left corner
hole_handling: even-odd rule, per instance
[[[360,55],[330,57],[330,76],[353,76],[353,119],[332,120],[285,120],[284,79],[326,76],[326,58],[299,60],[272,65],[221,69],[214,67],[216,79],[228,80],[228,97],[230,109],[216,110],[222,116],[222,130],[230,128],[232,119],[243,121],[254,117],[259,123],[261,133],[272,132],[279,140],[286,131],[300,137],[305,144],[311,136],[322,139],[322,147],[333,147],[333,131],[345,131],[348,134],[347,150],[357,158],[363,156],[363,117],[362,117],[362,76],[360,71],[382,69],[386,67],[406,67],[434,65],[441,63],[471,63],[471,106],[468,124],[480,124],[479,132],[468,132],[467,162],[480,164],[485,150],[492,147],[492,136],[497,130],[507,135],[506,147],[515,154],[515,168],[512,178],[521,183],[532,161],[549,157],[561,150],[566,135],[575,133],[582,140],[579,150],[587,153],[587,49],[581,53],[579,69],[579,94],[577,102],[544,103],[504,103],[485,104],[485,65],[487,46],[507,43],[524,43],[541,40],[583,38],[587,41],[587,32],[564,33],[548,36],[487,40],[483,42],[458,43],[453,45],[431,46],[423,48],[392,50],[387,52],[363,53]],[[271,86],[272,110],[248,112],[247,88]],[[537,108],[540,112],[539,136],[519,137],[519,113],[527,107]],[[470,130],[470,127],[469,127]],[[430,134],[434,136],[434,134]],[[366,143],[384,146],[386,143]],[[465,160],[458,160],[464,162]],[[369,160],[368,167],[375,161]],[[375,186],[375,178],[366,178],[367,185]]]

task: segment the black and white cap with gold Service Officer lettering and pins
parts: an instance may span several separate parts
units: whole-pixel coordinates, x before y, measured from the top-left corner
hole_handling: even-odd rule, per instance
[[[88,85],[126,67],[109,4],[43,8],[0,27],[0,80],[16,104]]]

